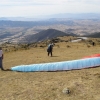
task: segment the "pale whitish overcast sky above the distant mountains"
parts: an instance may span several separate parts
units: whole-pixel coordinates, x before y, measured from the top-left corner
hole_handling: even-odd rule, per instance
[[[0,17],[100,13],[100,0],[0,0]]]

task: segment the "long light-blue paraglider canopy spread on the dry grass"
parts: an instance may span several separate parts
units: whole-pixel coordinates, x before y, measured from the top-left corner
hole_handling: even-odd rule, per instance
[[[82,69],[100,66],[100,57],[78,59],[72,61],[40,63],[31,65],[19,65],[12,67],[12,71],[35,72],[35,71],[62,71],[72,69]]]

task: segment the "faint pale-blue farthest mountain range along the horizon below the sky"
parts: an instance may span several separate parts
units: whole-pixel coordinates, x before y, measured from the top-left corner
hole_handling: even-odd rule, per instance
[[[61,13],[48,16],[41,16],[37,18],[25,18],[25,17],[1,17],[0,20],[11,21],[39,21],[49,20],[52,18],[67,18],[67,19],[100,19],[100,13]]]

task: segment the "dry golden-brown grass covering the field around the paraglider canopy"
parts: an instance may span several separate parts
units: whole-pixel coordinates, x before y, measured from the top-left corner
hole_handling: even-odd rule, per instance
[[[30,48],[4,54],[4,68],[16,65],[81,59],[100,53],[100,46],[56,43],[53,57],[47,48]],[[71,93],[62,90],[69,88]],[[100,100],[100,68],[59,72],[0,71],[0,100]]]

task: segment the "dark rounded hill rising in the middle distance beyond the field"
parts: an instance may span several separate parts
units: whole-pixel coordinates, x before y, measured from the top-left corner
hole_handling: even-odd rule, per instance
[[[66,34],[65,32],[55,30],[55,29],[47,29],[43,30],[37,34],[33,35],[27,35],[24,37],[21,42],[39,42],[39,41],[44,41],[52,38],[57,38],[61,36],[76,36],[75,34]]]

